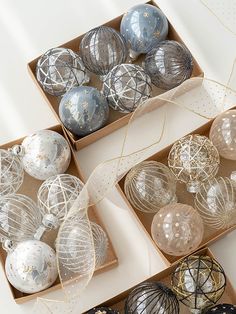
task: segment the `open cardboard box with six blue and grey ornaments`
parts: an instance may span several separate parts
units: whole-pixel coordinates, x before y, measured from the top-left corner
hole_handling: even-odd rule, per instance
[[[203,75],[153,1],[48,50],[28,68],[76,150],[127,124],[149,97]]]

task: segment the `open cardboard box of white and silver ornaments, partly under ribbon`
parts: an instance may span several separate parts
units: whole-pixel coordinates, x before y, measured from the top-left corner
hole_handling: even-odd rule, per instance
[[[60,125],[2,145],[0,161],[0,257],[13,297],[23,303],[61,288],[57,232],[83,181]],[[106,271],[117,265],[117,257],[95,207],[89,208],[88,216],[95,272]],[[81,220],[64,231],[66,249],[60,246],[60,263],[65,267],[69,263],[72,269],[84,249],[90,249],[82,238],[86,230]]]

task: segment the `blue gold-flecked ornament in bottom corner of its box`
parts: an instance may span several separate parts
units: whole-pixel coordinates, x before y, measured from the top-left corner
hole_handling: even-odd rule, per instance
[[[106,99],[96,88],[89,86],[74,87],[62,97],[59,106],[64,126],[80,137],[101,128],[108,115]]]

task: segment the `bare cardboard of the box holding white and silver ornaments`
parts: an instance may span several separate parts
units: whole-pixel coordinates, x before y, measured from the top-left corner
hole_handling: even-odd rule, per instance
[[[63,133],[63,129],[60,125],[52,127],[52,128],[50,128],[50,130],[56,131],[56,132],[58,132],[58,133],[60,133],[66,137],[66,135]],[[5,145],[2,145],[2,146],[0,146],[0,148],[7,149],[7,148],[12,147],[13,145],[21,144],[22,141],[23,141],[23,138],[15,140],[15,141],[10,142],[10,143],[7,143]],[[67,169],[66,173],[77,176],[83,181],[83,178],[82,178],[79,166],[78,166],[78,161],[76,160],[73,151],[72,151],[72,155],[71,155],[71,162],[70,162],[69,168]],[[25,173],[24,182],[23,182],[22,186],[20,187],[20,189],[17,191],[17,193],[27,195],[36,201],[37,191],[38,191],[38,188],[41,184],[42,184],[42,181],[37,180],[37,179],[29,176],[27,173]],[[91,221],[99,224],[104,229],[104,231],[106,231],[106,229],[104,228],[104,225],[103,225],[103,223],[99,217],[99,214],[97,213],[97,210],[94,206],[89,208],[89,218]],[[49,244],[53,244],[55,241],[55,238],[56,238],[56,234],[57,234],[57,231],[46,232],[43,236],[43,240]],[[108,236],[108,234],[107,234],[107,236]],[[108,240],[109,240],[109,246],[108,246],[108,254],[107,254],[106,261],[102,266],[100,266],[95,271],[95,273],[104,272],[107,269],[110,269],[111,267],[116,266],[118,263],[118,259],[117,259],[117,256],[115,254],[115,251],[113,249],[111,240],[109,239],[109,236],[108,236]],[[6,252],[2,248],[0,248],[0,259],[1,259],[1,262],[2,262],[3,268],[4,268],[5,259],[6,259]],[[10,283],[9,283],[9,285],[10,285]],[[61,284],[60,284],[60,281],[58,278],[56,280],[56,282],[50,288],[43,290],[43,291],[40,291],[38,293],[29,294],[29,295],[16,290],[11,285],[10,285],[10,287],[11,287],[12,296],[15,299],[15,302],[16,303],[23,303],[23,302],[26,302],[28,300],[34,299],[36,297],[42,296],[48,292],[60,289]]]

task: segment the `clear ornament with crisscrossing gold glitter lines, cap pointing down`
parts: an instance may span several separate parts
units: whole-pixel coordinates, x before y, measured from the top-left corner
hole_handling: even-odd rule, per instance
[[[219,164],[216,147],[206,136],[198,134],[175,142],[168,156],[169,168],[177,180],[186,183],[190,193],[196,193],[204,181],[213,178]]]

